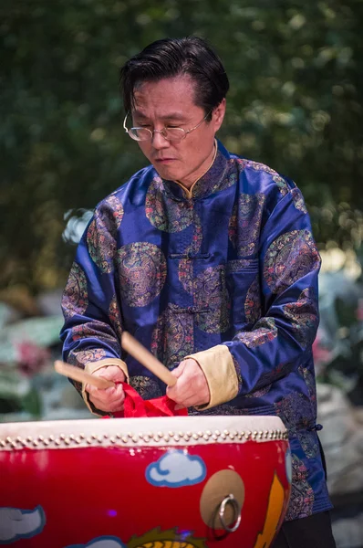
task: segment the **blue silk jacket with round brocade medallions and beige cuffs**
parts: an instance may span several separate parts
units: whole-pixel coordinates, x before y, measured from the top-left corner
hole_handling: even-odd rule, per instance
[[[312,356],[319,268],[303,196],[271,168],[218,142],[188,195],[149,166],[100,202],[79,243],[63,358],[90,371],[122,359],[149,399],[165,386],[121,351],[122,330],[170,369],[195,356],[211,402],[189,413],[280,416],[293,454],[286,519],[326,511]]]

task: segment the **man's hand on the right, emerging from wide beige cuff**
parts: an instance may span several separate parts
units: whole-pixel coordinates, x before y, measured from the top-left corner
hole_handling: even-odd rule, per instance
[[[179,407],[203,406],[209,403],[210,393],[202,368],[192,358],[184,360],[171,371],[177,377],[173,386],[168,386],[166,395]]]

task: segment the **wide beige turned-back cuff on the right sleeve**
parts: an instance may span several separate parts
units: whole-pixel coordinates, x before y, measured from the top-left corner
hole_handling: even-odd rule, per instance
[[[187,358],[192,358],[201,366],[211,393],[209,404],[198,406],[199,411],[225,404],[238,394],[238,377],[227,346],[218,344],[208,350],[186,356],[184,360]]]

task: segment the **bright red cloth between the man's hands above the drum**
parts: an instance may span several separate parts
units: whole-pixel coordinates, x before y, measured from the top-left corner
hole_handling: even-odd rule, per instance
[[[167,395],[156,397],[150,400],[144,400],[132,386],[127,383],[121,384],[125,392],[125,402],[123,411],[113,413],[116,418],[129,418],[131,416],[187,416],[186,407],[175,409],[177,404]],[[105,418],[109,418],[105,417]]]

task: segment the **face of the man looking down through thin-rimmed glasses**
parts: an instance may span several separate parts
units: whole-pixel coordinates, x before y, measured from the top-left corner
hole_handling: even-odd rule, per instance
[[[194,103],[195,85],[185,75],[141,83],[135,90],[132,125],[151,131],[165,126],[190,130],[205,116]],[[154,133],[150,141],[138,142],[140,149],[161,178],[190,187],[212,163],[214,134],[221,127],[224,111],[225,100],[214,109],[211,121],[203,121],[182,141],[167,141],[161,133]]]

